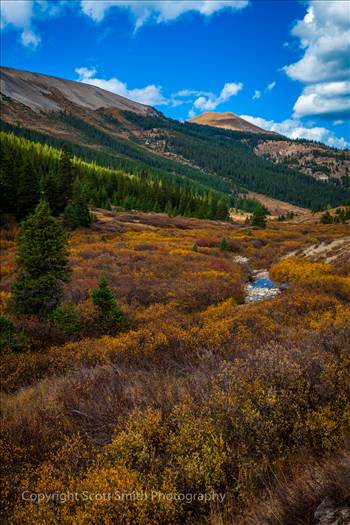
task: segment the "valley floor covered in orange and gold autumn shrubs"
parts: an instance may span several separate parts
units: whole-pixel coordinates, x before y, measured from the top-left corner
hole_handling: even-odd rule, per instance
[[[13,316],[27,342],[2,356],[3,522],[306,525],[323,504],[347,523],[349,225],[94,213],[70,239],[79,331]],[[245,303],[262,269],[287,286]],[[96,321],[102,273],[119,331]]]

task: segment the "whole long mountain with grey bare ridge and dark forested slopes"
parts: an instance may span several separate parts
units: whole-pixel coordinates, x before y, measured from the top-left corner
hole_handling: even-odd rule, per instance
[[[291,141],[233,114],[231,123],[240,126],[239,131],[223,128],[222,119],[219,127],[172,120],[154,108],[80,82],[10,68],[0,72],[3,131],[55,148],[68,144],[82,160],[191,184],[193,191],[215,190],[232,205],[248,191],[315,209],[350,199],[348,152]],[[297,162],[278,154],[290,147],[297,151]],[[305,152],[300,155],[301,147]],[[312,152],[320,148],[316,157]],[[325,165],[325,155],[333,164]],[[327,174],[325,182],[315,177],[315,166],[320,165]],[[342,169],[333,181],[338,173],[334,165]],[[307,166],[313,176],[303,173]]]

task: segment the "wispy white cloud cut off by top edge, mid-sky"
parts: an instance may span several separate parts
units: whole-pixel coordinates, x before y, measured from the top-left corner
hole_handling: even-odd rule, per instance
[[[95,22],[101,22],[112,8],[126,9],[131,12],[137,30],[148,21],[170,22],[189,11],[211,16],[221,9],[243,9],[248,3],[249,0],[81,0],[80,6]]]

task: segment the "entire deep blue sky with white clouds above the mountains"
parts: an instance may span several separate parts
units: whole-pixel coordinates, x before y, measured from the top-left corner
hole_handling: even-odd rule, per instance
[[[349,146],[346,1],[2,0],[1,63]]]

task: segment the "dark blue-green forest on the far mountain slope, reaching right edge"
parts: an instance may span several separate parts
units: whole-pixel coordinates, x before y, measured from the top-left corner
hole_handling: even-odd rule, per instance
[[[181,155],[236,187],[315,210],[343,204],[350,198],[349,190],[257,157],[252,152],[252,146],[257,140],[266,139],[266,135],[257,135],[253,140],[251,133],[182,124],[130,112],[127,112],[127,118],[143,129],[168,130],[167,151]],[[281,139],[269,136],[269,140]]]

